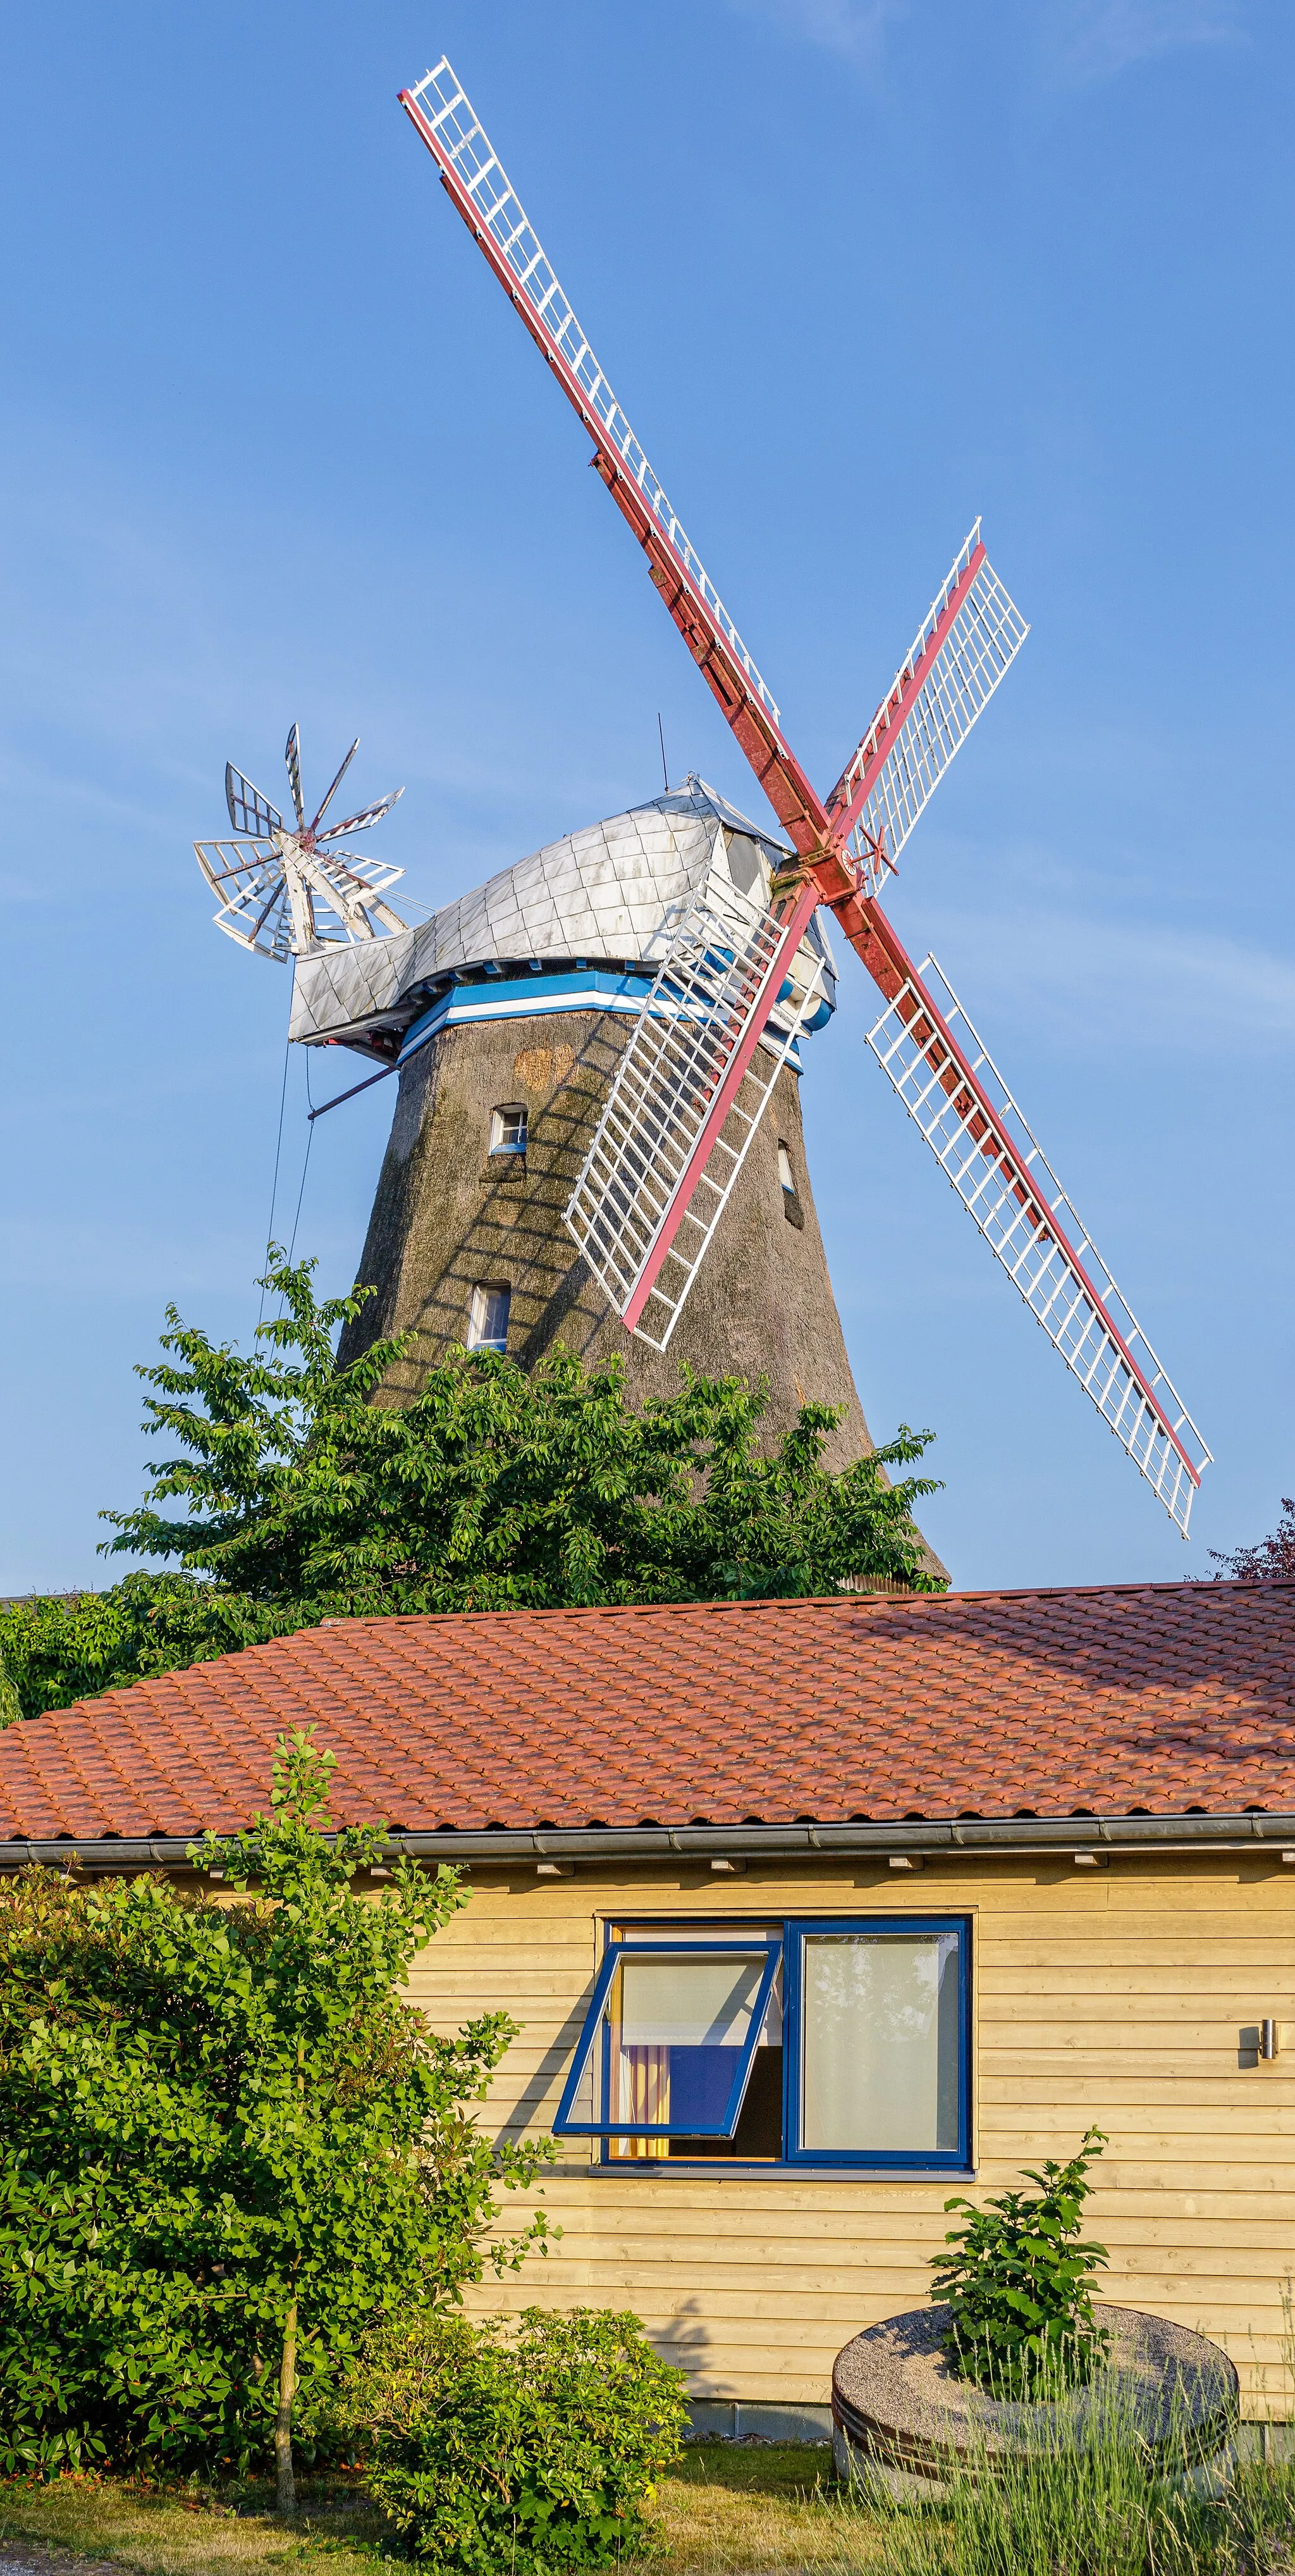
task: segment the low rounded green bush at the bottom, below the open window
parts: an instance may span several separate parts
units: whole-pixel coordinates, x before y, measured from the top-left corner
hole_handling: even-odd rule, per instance
[[[602,2568],[649,2537],[680,2455],[685,2375],[636,2316],[525,2308],[502,2321],[404,2311],[342,2403],[368,2432],[368,2491],[409,2558],[456,2576]]]

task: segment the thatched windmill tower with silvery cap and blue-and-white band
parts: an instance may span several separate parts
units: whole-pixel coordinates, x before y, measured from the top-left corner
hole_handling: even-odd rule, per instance
[[[572,832],[415,930],[296,958],[291,1033],[399,1064],[399,1100],[358,1275],[378,1288],[345,1355],[415,1327],[404,1383],[451,1342],[533,1365],[556,1340],[618,1352],[636,1399],[680,1363],[770,1381],[770,1430],[806,1399],[842,1404],[842,1466],[870,1448],[826,1273],[801,1131],[801,1048],[832,1015],[819,922],[803,969],[821,994],[775,1077],[723,1229],[669,1350],[628,1334],[564,1208],[620,1048],[680,909],[726,889],[765,902],[788,845],[703,781]]]

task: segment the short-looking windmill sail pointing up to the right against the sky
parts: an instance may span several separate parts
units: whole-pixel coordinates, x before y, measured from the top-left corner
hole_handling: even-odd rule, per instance
[[[909,832],[1030,634],[976,520],[826,809],[880,894]]]

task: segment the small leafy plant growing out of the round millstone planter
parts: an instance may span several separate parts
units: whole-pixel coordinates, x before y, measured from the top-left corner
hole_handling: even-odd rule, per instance
[[[1079,2241],[1089,2164],[1104,2143],[1089,2128],[1068,2164],[1048,2156],[1043,2172],[1027,2166],[1035,2195],[1002,2192],[986,2208],[945,2200],[945,2210],[968,2210],[968,2226],[945,2236],[958,2251],[932,2257],[932,2298],[950,2308],[945,2349],[960,2378],[996,2398],[1081,2388],[1107,2352],[1092,2313],[1092,2275],[1107,2249]]]

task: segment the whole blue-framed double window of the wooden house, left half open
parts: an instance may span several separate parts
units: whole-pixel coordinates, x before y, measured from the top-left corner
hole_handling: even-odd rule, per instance
[[[963,1917],[623,1927],[554,2130],[610,2164],[960,2172],[968,1953]]]

